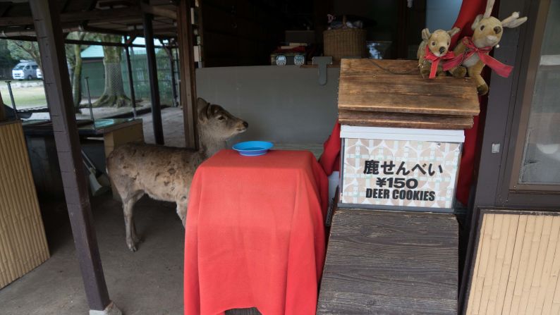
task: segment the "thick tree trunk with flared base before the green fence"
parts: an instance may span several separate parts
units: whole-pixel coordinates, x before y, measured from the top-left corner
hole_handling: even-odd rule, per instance
[[[104,42],[117,42],[120,36],[104,35]],[[124,93],[123,73],[121,72],[122,47],[103,47],[105,68],[105,89],[93,106],[130,106],[130,99]]]

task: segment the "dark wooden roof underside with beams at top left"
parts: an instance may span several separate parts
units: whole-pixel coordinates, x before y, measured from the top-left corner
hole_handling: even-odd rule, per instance
[[[176,37],[178,0],[52,0],[61,11],[63,32],[82,30],[142,36],[142,13],[154,16],[154,37]],[[35,36],[26,0],[0,1],[0,38]]]

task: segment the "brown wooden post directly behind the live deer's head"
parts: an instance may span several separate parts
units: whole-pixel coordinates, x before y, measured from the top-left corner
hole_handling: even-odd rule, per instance
[[[190,0],[181,0],[177,10],[179,73],[181,75],[181,104],[183,104],[185,144],[190,149],[198,149],[195,59],[193,56],[193,30],[190,24]]]

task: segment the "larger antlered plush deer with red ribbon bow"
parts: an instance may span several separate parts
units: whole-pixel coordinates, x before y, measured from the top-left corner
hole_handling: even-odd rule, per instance
[[[511,16],[500,21],[490,16],[493,6],[494,0],[488,0],[484,15],[479,14],[473,22],[473,36],[463,37],[454,49],[455,58],[444,63],[444,70],[449,70],[454,77],[463,78],[468,73],[468,76],[475,80],[479,95],[488,92],[488,85],[480,75],[485,66],[489,66],[504,78],[509,76],[513,68],[488,56],[499,43],[504,27],[518,27],[527,20],[526,17],[519,18],[518,12],[513,12]]]

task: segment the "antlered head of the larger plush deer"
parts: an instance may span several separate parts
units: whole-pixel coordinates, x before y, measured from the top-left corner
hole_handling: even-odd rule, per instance
[[[479,14],[471,26],[474,30],[473,42],[478,48],[496,46],[504,34],[504,27],[518,27],[527,20],[527,17],[519,18],[519,12],[513,12],[511,16],[500,21],[490,16],[493,7],[494,0],[488,0],[485,13]]]

